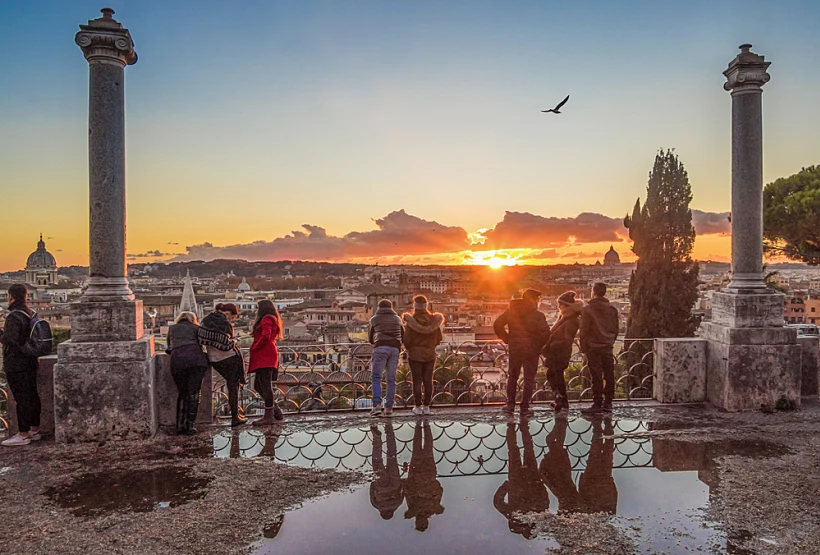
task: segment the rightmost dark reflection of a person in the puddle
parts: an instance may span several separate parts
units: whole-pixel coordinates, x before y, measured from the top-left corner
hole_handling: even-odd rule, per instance
[[[587,467],[578,480],[582,512],[614,515],[618,508],[618,488],[612,477],[615,440],[612,437],[603,437],[612,436],[612,433],[611,419],[592,421],[592,444],[589,447]]]

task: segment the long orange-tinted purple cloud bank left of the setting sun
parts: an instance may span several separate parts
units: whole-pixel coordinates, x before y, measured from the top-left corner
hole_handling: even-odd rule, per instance
[[[466,250],[467,232],[423,220],[404,210],[373,220],[378,229],[354,231],[342,237],[328,235],[323,227],[304,224],[304,231],[272,241],[215,247],[211,243],[186,247],[175,260],[348,260],[379,256],[427,255]]]

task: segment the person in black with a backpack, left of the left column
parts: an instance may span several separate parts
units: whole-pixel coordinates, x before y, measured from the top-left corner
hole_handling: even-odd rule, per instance
[[[40,395],[37,392],[40,364],[36,357],[30,357],[22,350],[28,341],[31,319],[34,318],[34,312],[26,304],[27,299],[28,288],[25,285],[16,283],[9,287],[9,313],[0,334],[3,370],[17,404],[17,433],[3,441],[3,445],[10,447],[28,445],[41,439]]]

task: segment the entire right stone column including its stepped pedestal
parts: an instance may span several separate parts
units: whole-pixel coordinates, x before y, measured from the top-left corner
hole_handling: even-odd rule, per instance
[[[712,296],[706,397],[728,411],[800,405],[801,347],[784,327],[785,296],[763,276],[762,86],[769,62],[740,47],[723,74],[732,92],[732,281]]]

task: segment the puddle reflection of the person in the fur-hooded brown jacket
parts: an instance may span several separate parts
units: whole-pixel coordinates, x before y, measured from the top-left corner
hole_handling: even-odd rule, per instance
[[[433,432],[430,424],[416,424],[413,432],[413,455],[410,470],[404,481],[404,497],[407,511],[404,518],[416,519],[416,530],[424,532],[430,525],[430,517],[444,512],[441,498],[444,488],[436,479],[436,460],[433,454]]]

